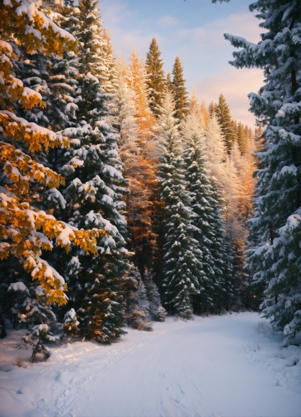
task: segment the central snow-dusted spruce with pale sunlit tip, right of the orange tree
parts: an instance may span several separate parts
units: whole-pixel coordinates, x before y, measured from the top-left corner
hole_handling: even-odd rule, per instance
[[[192,295],[198,293],[197,271],[201,264],[196,257],[197,241],[193,238],[194,214],[186,189],[182,149],[174,117],[174,102],[166,93],[161,125],[161,164],[159,168],[164,222],[164,298],[172,312],[181,318],[191,317]]]

